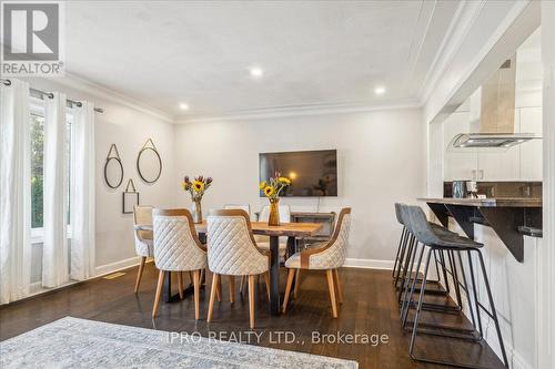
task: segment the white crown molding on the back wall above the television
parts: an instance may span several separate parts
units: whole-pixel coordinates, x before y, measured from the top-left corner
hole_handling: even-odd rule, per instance
[[[220,115],[192,115],[175,116],[175,124],[185,123],[209,123],[221,121],[245,121],[273,117],[310,116],[325,114],[344,114],[357,112],[373,112],[385,110],[417,109],[422,104],[417,100],[402,100],[390,104],[355,104],[355,103],[325,103],[325,104],[304,104],[292,106],[272,106],[263,109],[250,109],[226,112]]]

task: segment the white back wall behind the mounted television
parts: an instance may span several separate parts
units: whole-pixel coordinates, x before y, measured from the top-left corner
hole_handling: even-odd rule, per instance
[[[425,194],[425,130],[421,110],[375,111],[299,117],[185,123],[175,129],[178,206],[191,202],[179,187],[184,175],[209,175],[214,184],[203,207],[249,203],[259,211],[259,153],[336,148],[339,196],[320,211],[353,208],[349,258],[391,266],[401,228],[394,202]],[[316,211],[316,198],[283,198],[293,211]],[[381,263],[376,260],[387,260]]]

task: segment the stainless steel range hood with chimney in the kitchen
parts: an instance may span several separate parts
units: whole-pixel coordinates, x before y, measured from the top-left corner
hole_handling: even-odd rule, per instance
[[[450,147],[507,150],[542,139],[536,133],[515,133],[515,91],[516,54],[471,96],[471,133],[455,135]]]

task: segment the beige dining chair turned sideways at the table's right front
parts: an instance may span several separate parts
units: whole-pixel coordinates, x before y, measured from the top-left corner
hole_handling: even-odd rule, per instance
[[[327,287],[330,289],[330,300],[332,303],[332,315],[337,317],[337,304],[335,300],[335,290],[340,304],[343,303],[343,291],[341,289],[337,268],[345,263],[346,246],[349,240],[349,227],[351,224],[351,208],[343,208],[340,213],[337,225],[329,242],[320,244],[319,247],[304,249],[294,254],[285,262],[287,271],[287,285],[285,287],[285,297],[283,298],[283,312],[287,309],[289,295],[295,273],[301,269],[323,269],[327,276]],[[299,278],[295,289],[299,287]]]

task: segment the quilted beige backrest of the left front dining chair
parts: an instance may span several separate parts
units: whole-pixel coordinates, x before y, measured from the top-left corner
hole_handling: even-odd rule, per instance
[[[154,209],[153,229],[157,268],[186,271],[206,267],[206,252],[188,209]]]

